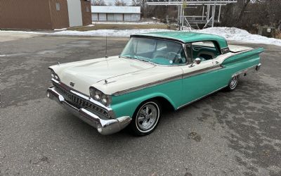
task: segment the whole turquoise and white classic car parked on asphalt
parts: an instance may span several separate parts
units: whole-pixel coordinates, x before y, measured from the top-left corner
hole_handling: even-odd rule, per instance
[[[47,96],[95,127],[113,134],[128,127],[150,134],[163,106],[174,110],[259,70],[263,48],[228,45],[195,32],[133,34],[122,54],[50,66]]]

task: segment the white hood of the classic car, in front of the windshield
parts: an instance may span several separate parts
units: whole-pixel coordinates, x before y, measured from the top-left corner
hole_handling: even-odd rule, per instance
[[[68,86],[70,86],[70,82],[73,82],[74,89],[89,94],[89,87],[96,82],[154,67],[155,65],[152,63],[112,56],[53,65],[50,68],[58,74],[61,82]]]

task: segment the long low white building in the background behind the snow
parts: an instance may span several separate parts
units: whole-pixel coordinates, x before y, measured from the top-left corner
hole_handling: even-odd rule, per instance
[[[92,21],[138,21],[141,6],[91,6]]]

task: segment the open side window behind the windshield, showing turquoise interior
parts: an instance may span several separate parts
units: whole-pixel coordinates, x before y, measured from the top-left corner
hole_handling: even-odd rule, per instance
[[[219,55],[218,49],[214,42],[194,42],[192,43],[192,61],[195,58],[200,58],[201,61],[211,60]]]

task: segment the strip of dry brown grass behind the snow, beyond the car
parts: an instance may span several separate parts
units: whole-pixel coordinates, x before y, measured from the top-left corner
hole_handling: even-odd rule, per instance
[[[82,27],[70,27],[67,30],[134,30],[134,29],[167,29],[165,24],[147,24],[147,25],[136,25],[136,24],[95,24],[94,26],[82,26]]]

